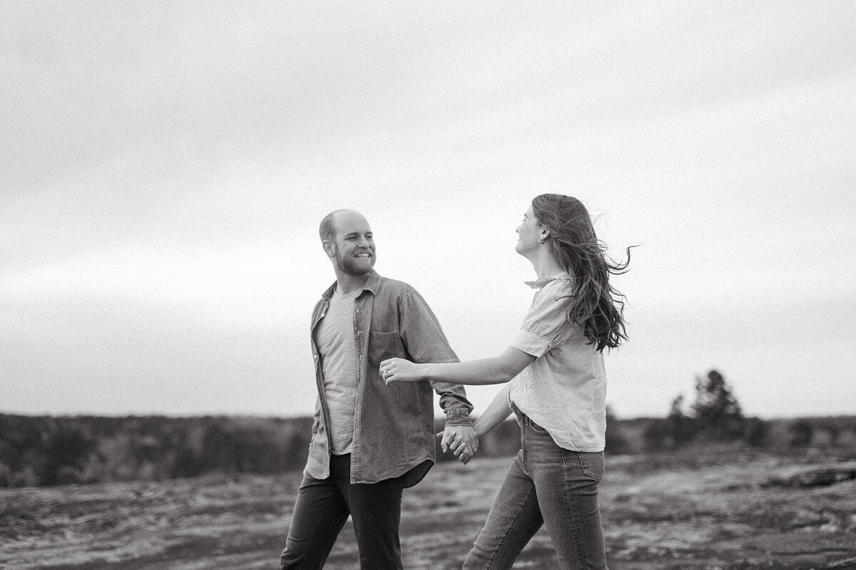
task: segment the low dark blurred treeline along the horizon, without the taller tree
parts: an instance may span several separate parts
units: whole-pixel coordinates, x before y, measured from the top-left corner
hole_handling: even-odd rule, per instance
[[[689,422],[689,423],[687,423]],[[669,450],[698,434],[688,416],[609,417],[607,452]],[[746,419],[729,441],[770,450],[835,448],[856,456],[856,418]],[[437,431],[442,430],[442,418]],[[311,418],[205,416],[24,416],[0,414],[0,487],[160,480],[203,473],[284,473],[306,461]],[[683,435],[676,435],[676,434]],[[687,434],[691,434],[688,438]],[[507,420],[479,446],[479,455],[514,455],[516,422]],[[452,461],[438,450],[439,461]]]

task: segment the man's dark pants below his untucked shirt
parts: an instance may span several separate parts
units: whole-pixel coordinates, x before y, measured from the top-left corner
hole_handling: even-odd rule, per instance
[[[294,502],[282,570],[318,570],[348,520],[354,523],[362,570],[401,570],[401,478],[350,482],[351,455],[330,455],[330,477],[305,475]]]

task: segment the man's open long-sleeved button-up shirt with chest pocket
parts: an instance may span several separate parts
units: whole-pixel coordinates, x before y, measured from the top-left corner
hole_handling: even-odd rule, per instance
[[[325,427],[330,425],[330,412],[315,332],[335,287],[324,291],[312,311],[318,401],[305,473],[315,479],[330,476],[330,435]],[[377,483],[406,474],[405,486],[415,485],[436,461],[433,392],[440,397],[447,425],[472,425],[473,405],[461,385],[428,381],[386,385],[378,370],[380,362],[395,356],[413,362],[455,362],[458,357],[425,299],[410,285],[374,271],[354,302],[354,342],[360,380],[351,483]]]

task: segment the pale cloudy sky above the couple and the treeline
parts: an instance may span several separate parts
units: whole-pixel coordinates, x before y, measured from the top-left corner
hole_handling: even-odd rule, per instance
[[[856,413],[856,3],[2,6],[0,412],[311,414],[344,207],[492,356],[557,191],[639,244],[620,417]]]

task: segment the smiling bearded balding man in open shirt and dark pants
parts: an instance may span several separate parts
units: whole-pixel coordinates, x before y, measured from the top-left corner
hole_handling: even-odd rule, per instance
[[[363,570],[401,569],[401,491],[435,460],[434,402],[446,414],[443,450],[454,442],[463,462],[478,440],[473,405],[460,385],[387,386],[380,362],[457,361],[437,317],[413,287],[374,270],[368,221],[354,210],[328,214],[319,229],[336,283],[312,312],[318,402],[312,443],[280,564],[324,567],[348,515]]]

